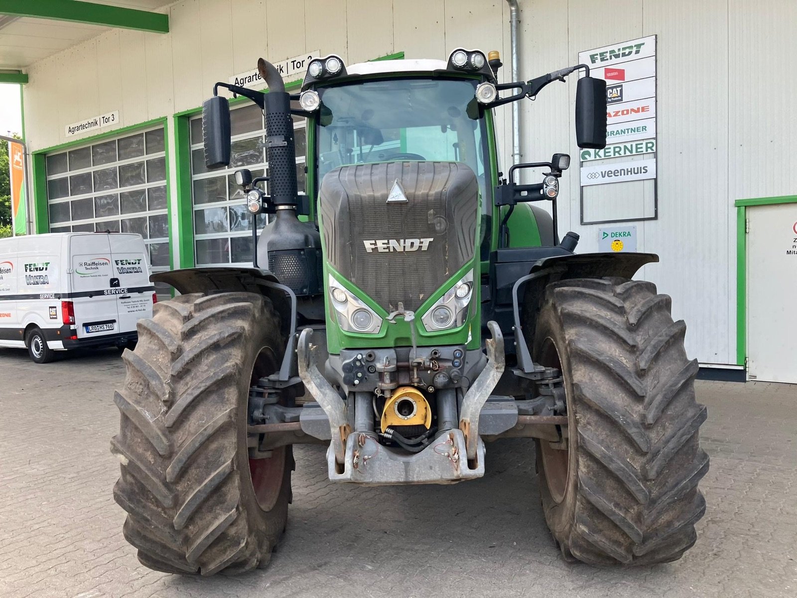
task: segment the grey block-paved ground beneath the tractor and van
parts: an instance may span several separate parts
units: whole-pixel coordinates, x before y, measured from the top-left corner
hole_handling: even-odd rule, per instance
[[[269,568],[210,579],[139,565],[111,498],[114,351],[37,366],[0,349],[0,596],[797,596],[797,387],[698,383],[712,458],[697,545],[676,563],[559,559],[533,445],[489,446],[485,478],[358,488],[298,447],[289,533]]]

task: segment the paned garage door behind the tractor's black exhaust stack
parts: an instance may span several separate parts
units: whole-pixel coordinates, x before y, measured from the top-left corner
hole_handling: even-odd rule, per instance
[[[202,151],[202,117],[190,121],[191,187],[194,204],[194,243],[197,266],[252,264],[252,214],[246,210],[244,194],[235,184],[234,172],[249,168],[252,176],[268,176],[263,112],[254,104],[230,110],[232,159],[230,167],[209,171]],[[293,117],[296,137],[296,175],[304,193],[306,138],[304,119]],[[265,185],[268,193],[268,185]],[[257,228],[266,223],[257,217]]]

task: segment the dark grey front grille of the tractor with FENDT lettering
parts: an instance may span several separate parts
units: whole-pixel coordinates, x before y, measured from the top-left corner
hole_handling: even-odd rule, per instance
[[[387,202],[396,180],[406,202]],[[415,310],[473,258],[476,175],[453,162],[340,167],[324,176],[320,212],[332,267],[388,312]]]

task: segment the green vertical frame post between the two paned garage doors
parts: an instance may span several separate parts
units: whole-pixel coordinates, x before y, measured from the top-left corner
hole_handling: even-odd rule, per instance
[[[194,267],[194,214],[191,205],[191,144],[188,116],[175,116],[175,165],[177,167],[177,226],[179,247],[172,249],[172,268]],[[170,211],[171,214],[171,211]],[[170,224],[171,227],[171,224]],[[174,259],[174,250],[179,250],[179,266]]]

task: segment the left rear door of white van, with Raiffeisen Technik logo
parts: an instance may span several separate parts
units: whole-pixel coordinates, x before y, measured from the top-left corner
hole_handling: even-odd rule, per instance
[[[72,301],[77,338],[116,334],[119,313],[112,290],[111,248],[107,234],[80,234],[69,238],[72,256]]]

